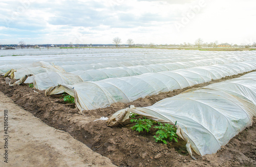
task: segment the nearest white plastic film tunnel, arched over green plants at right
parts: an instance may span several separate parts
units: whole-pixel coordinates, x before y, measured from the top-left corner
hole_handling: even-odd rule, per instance
[[[180,130],[177,134],[187,141],[187,146],[201,156],[214,154],[252,125],[252,118],[256,116],[256,72],[189,89],[149,107],[122,109],[110,120],[115,121],[117,115],[130,112],[172,125],[177,121],[176,127]]]

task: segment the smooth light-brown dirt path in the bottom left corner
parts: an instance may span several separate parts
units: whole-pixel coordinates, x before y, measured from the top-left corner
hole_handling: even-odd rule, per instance
[[[0,92],[0,166],[115,166],[67,132],[43,123]],[[8,163],[5,163],[4,110],[8,110]]]

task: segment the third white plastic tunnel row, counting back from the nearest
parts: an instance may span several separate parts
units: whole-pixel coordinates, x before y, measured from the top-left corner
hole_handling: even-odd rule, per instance
[[[35,88],[39,90],[44,90],[52,86],[57,86],[59,84],[73,85],[75,83],[82,82],[82,81],[99,81],[99,80],[108,79],[108,78],[137,76],[145,73],[157,73],[160,71],[167,71],[167,70],[170,71],[175,69],[203,66],[204,64],[207,64],[207,65],[223,64],[224,62],[230,62],[230,61],[207,59],[207,60],[197,60],[197,61],[191,61],[191,62],[152,64],[152,65],[146,65],[146,66],[77,70],[77,71],[71,72],[73,76],[70,73],[48,72],[48,73],[39,73],[37,75],[34,75],[33,77],[28,78],[26,80],[26,83],[34,83]],[[244,63],[246,63],[246,61]]]

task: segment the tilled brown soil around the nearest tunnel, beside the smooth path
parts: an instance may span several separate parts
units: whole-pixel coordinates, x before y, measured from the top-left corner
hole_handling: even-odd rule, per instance
[[[189,88],[206,86],[244,74],[160,93],[129,104],[135,107],[151,106],[159,100],[173,97]],[[110,128],[103,121],[94,122],[101,116],[111,116],[129,104],[116,103],[110,107],[84,111],[81,115],[75,106],[70,106],[59,99],[59,95],[45,97],[44,91],[34,90],[26,84],[10,87],[5,83],[5,79],[1,78],[0,90],[17,105],[33,113],[49,126],[70,133],[75,139],[83,142],[93,151],[110,158],[118,166],[256,166],[255,123],[231,139],[218,153],[203,157],[195,156],[197,160],[192,160],[181,140],[178,144],[172,142],[167,146],[156,143],[154,138],[148,135],[132,131],[126,127],[129,125]]]

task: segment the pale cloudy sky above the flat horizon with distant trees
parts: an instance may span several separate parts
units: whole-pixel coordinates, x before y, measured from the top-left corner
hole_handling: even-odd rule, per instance
[[[0,0],[0,43],[256,42],[254,0]]]

